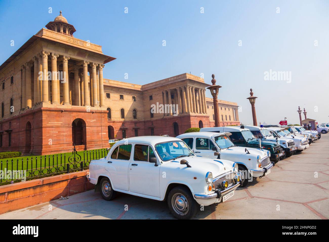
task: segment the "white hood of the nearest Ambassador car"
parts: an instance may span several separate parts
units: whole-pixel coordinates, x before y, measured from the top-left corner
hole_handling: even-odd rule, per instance
[[[186,167],[186,165],[181,165],[181,160],[187,160],[191,166],[191,170],[203,171],[205,173],[211,172],[213,176],[216,177],[228,171],[233,171],[233,161],[223,160],[223,159],[211,159],[200,156],[190,156],[182,157],[176,160],[168,161],[170,166]]]

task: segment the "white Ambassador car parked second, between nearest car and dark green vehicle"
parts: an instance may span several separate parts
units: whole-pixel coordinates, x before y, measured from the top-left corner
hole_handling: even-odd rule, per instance
[[[252,181],[252,177],[263,177],[270,173],[273,163],[270,162],[269,151],[235,146],[229,139],[230,135],[229,132],[191,132],[176,138],[183,140],[196,155],[236,162],[241,174],[241,187]]]

